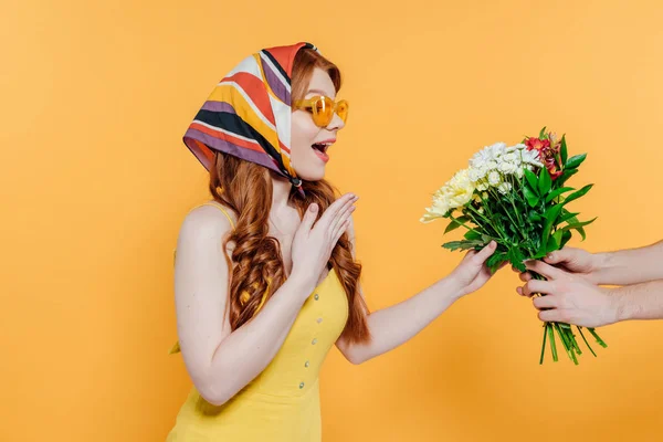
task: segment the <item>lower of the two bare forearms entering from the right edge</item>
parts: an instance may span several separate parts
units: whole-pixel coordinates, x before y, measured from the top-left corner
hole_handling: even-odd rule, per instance
[[[614,288],[618,320],[663,319],[663,280]]]

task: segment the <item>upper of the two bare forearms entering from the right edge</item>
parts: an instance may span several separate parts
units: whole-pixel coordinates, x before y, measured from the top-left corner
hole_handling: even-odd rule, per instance
[[[597,253],[598,284],[628,285],[663,280],[663,241],[639,249]]]

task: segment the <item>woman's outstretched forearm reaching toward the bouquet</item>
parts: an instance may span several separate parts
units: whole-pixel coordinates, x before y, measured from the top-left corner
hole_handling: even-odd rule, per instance
[[[352,364],[361,364],[404,344],[462,296],[452,277],[431,285],[419,294],[368,316],[369,344],[341,348]]]

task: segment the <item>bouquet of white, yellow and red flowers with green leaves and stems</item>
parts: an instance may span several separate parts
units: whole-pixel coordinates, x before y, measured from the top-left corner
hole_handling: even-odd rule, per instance
[[[486,262],[491,272],[503,263],[525,272],[524,261],[538,260],[564,248],[572,232],[585,240],[585,225],[596,220],[579,221],[579,213],[568,210],[570,202],[593,186],[579,190],[565,186],[586,157],[587,154],[581,154],[568,158],[566,137],[558,139],[545,127],[538,137],[526,137],[515,146],[497,143],[485,147],[470,159],[469,168],[457,171],[433,194],[432,206],[425,209],[421,222],[446,218],[450,223],[444,233],[465,228],[463,240],[442,245],[451,251],[481,250],[495,241],[497,249]],[[545,278],[536,273],[533,276]],[[596,357],[582,327],[576,328]],[[607,347],[593,328],[588,332],[600,346]],[[582,351],[571,326],[564,323],[544,323],[539,364],[544,361],[546,338],[557,361],[556,334],[577,365],[577,355]]]

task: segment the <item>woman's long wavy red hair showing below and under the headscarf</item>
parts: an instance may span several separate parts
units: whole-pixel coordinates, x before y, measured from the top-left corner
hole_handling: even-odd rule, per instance
[[[317,52],[302,49],[293,64],[293,101],[304,98],[316,67],[329,74],[338,92],[341,85],[338,67]],[[306,197],[294,189],[288,197],[299,218],[315,202],[322,209],[318,210],[319,219],[337,199],[337,189],[324,179],[303,180],[302,186]],[[209,189],[214,200],[238,215],[235,229],[223,241],[223,250],[229,242],[234,244],[231,256],[225,256],[231,269],[227,314],[234,330],[260,314],[263,294],[266,293],[269,301],[285,281],[278,240],[269,235],[272,179],[270,170],[263,166],[217,151],[210,167]],[[348,234],[344,233],[332,252],[329,265],[336,271],[348,298],[349,315],[341,336],[351,343],[367,343],[370,340],[368,307],[358,292],[361,264],[352,259],[351,246]]]

